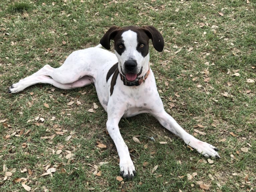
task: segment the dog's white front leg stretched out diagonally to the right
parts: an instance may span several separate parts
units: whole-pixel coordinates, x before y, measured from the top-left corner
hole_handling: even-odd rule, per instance
[[[220,158],[217,152],[218,149],[216,147],[206,142],[200,141],[187,133],[169,114],[164,111],[164,109],[160,110],[160,112],[158,111],[156,113],[152,113],[152,115],[163,127],[183,139],[187,145],[196,149],[198,153],[205,157]]]

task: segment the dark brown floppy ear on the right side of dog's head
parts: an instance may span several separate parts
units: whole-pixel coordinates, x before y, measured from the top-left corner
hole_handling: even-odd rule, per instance
[[[164,46],[164,40],[163,40],[163,36],[161,35],[161,33],[155,27],[153,27],[151,25],[142,26],[141,28],[145,31],[147,36],[150,39],[152,39],[154,48],[157,51],[161,52],[163,50],[163,46]]]

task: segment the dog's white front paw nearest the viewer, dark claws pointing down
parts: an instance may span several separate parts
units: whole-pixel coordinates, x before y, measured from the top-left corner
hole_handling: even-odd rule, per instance
[[[131,159],[120,160],[120,175],[124,178],[133,179],[136,174],[135,167]]]

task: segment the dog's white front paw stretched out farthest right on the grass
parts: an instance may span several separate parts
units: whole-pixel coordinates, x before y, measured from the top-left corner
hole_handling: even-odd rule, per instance
[[[189,141],[188,145],[196,149],[197,152],[202,154],[204,157],[220,158],[217,152],[218,149],[209,143],[194,138]]]

